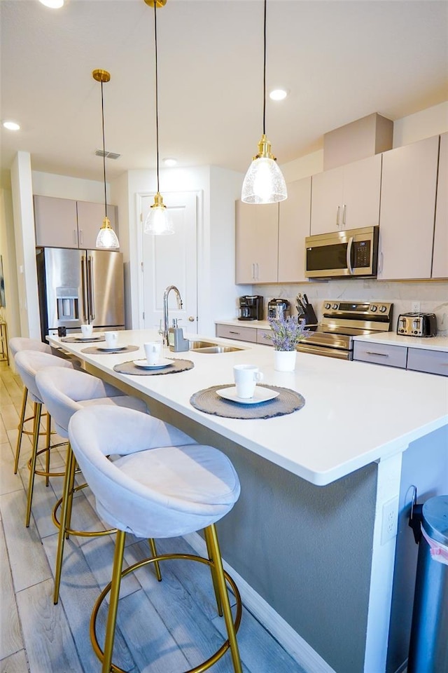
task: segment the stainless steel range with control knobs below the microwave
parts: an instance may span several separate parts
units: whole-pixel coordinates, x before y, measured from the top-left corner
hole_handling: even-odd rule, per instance
[[[329,358],[353,360],[353,337],[373,332],[389,332],[393,304],[388,301],[323,302],[323,319],[298,351],[326,355]]]

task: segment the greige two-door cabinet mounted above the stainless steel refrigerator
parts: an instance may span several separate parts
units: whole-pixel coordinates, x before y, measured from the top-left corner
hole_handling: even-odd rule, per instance
[[[118,234],[117,208],[108,205],[108,217]],[[38,247],[96,247],[104,219],[104,204],[53,196],[34,196],[34,222]]]

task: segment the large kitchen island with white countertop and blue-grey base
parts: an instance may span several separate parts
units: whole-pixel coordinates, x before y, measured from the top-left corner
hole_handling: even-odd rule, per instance
[[[272,350],[247,342],[235,342],[241,350],[232,353],[167,352],[195,367],[131,376],[113,365],[144,357],[142,345],[158,335],[119,334],[120,344],[141,350],[92,355],[86,344],[48,339],[230,456],[241,498],[221,522],[221,546],[248,608],[310,672],[392,670],[405,639],[396,634],[388,644],[395,526],[401,530],[410,503],[404,478],[422,496],[448,490],[447,379],[305,353],[297,353],[295,372],[274,372]],[[245,363],[260,367],[264,383],[297,390],[304,407],[232,420],[190,405],[197,390],[232,383],[232,366]],[[385,504],[392,529],[383,524]]]

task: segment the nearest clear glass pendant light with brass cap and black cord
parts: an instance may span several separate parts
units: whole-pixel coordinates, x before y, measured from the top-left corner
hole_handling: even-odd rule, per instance
[[[271,154],[271,144],[266,137],[266,4],[264,28],[264,64],[263,64],[263,132],[258,143],[258,154],[246,172],[241,200],[244,203],[276,203],[288,197],[286,183],[276,158]]]

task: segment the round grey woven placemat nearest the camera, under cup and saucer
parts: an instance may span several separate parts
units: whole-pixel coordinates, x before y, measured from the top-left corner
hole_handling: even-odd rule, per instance
[[[244,405],[239,402],[225,400],[216,394],[216,390],[221,388],[232,388],[233,383],[226,383],[224,386],[211,386],[198,390],[190,397],[190,404],[206,414],[214,416],[223,416],[225,419],[272,419],[274,416],[285,416],[292,414],[297,409],[302,409],[305,400],[303,395],[296,393],[289,388],[280,388],[280,386],[267,386],[258,383],[261,388],[277,390],[280,394],[274,397],[274,400],[267,402],[258,402],[256,405]]]

